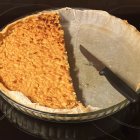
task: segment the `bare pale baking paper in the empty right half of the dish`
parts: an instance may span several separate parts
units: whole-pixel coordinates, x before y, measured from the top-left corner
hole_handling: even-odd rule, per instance
[[[67,8],[61,9],[61,15],[85,103],[107,108],[124,101],[106,78],[89,65],[79,46],[82,44],[136,90],[140,82],[140,33],[127,21],[105,11]]]

